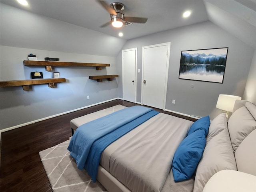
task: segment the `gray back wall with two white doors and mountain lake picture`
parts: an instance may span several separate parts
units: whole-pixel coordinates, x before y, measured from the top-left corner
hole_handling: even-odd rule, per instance
[[[243,96],[247,76],[252,63],[254,49],[222,30],[212,22],[168,30],[133,40],[128,40],[122,49],[138,48],[137,67],[142,67],[142,46],[171,42],[168,72],[166,109],[194,116],[210,115],[211,119],[220,113],[216,109],[219,94]],[[228,57],[223,84],[181,80],[179,76],[182,50],[228,47]],[[119,55],[122,52],[119,53]],[[120,58],[120,57],[119,57]],[[122,68],[122,60],[118,67]],[[157,64],[156,64],[157,70]],[[137,70],[138,72],[138,70]],[[141,102],[141,73],[137,73],[137,102]],[[122,78],[118,85],[118,96],[122,96]],[[194,88],[191,88],[191,85]],[[172,104],[176,100],[176,104]]]

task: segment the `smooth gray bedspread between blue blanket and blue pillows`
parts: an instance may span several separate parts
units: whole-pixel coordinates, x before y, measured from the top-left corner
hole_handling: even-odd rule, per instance
[[[100,164],[132,192],[191,192],[194,179],[175,183],[171,166],[192,123],[160,113],[108,146]]]

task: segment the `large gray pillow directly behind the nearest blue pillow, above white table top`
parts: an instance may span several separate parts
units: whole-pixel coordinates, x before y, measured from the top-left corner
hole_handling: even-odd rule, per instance
[[[236,170],[236,161],[228,135],[228,130],[222,131],[206,143],[204,152],[196,168],[194,192],[202,192],[208,180],[218,171]]]

